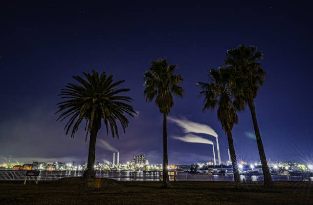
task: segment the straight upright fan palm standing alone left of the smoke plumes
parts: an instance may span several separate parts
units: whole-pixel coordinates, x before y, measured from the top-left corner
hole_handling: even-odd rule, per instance
[[[173,94],[183,97],[184,90],[179,86],[183,81],[181,75],[175,75],[176,65],[169,65],[166,59],[159,59],[151,62],[150,67],[145,72],[143,79],[145,81],[144,95],[146,102],[152,102],[163,113],[163,187],[170,186],[168,176],[168,157],[167,157],[167,131],[166,117],[174,106]]]

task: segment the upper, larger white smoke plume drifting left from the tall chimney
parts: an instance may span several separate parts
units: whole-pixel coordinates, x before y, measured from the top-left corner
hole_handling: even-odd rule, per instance
[[[210,126],[206,124],[195,123],[187,119],[180,120],[178,118],[172,118],[172,117],[168,117],[168,120],[172,123],[176,123],[181,128],[183,128],[185,133],[193,132],[193,133],[211,135],[216,138],[218,137],[217,133]]]

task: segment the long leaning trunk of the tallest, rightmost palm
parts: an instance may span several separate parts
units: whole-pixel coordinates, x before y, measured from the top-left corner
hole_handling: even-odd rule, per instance
[[[255,132],[255,137],[256,137],[256,143],[258,144],[258,149],[259,149],[259,155],[260,155],[260,160],[262,164],[262,170],[263,170],[263,176],[264,176],[264,185],[267,187],[270,187],[273,185],[272,178],[269,173],[268,169],[268,162],[266,160],[265,156],[265,151],[261,139],[261,134],[258,126],[258,122],[256,119],[256,113],[255,113],[255,105],[254,105],[254,100],[251,99],[250,102],[248,102],[250,111],[251,111],[251,116],[252,116],[252,121],[253,121],[253,126],[254,126],[254,132]]]

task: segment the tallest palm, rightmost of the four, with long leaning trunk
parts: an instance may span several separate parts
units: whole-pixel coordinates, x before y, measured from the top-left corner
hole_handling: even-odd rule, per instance
[[[262,164],[264,185],[272,186],[273,183],[268,169],[254,105],[254,99],[257,97],[259,87],[263,85],[266,78],[266,73],[259,62],[263,58],[263,53],[258,52],[254,46],[246,47],[245,45],[240,45],[238,48],[228,50],[226,57],[225,64],[233,71],[233,95],[239,105],[237,108],[238,110],[243,110],[246,104],[250,108]]]

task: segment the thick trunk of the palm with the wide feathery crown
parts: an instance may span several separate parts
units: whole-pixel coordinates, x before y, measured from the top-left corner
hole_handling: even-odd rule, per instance
[[[98,133],[97,129],[90,131],[88,163],[87,163],[87,170],[84,172],[84,178],[95,178],[95,175],[96,175],[94,171],[94,161],[95,161],[95,155],[96,155],[97,133]]]

